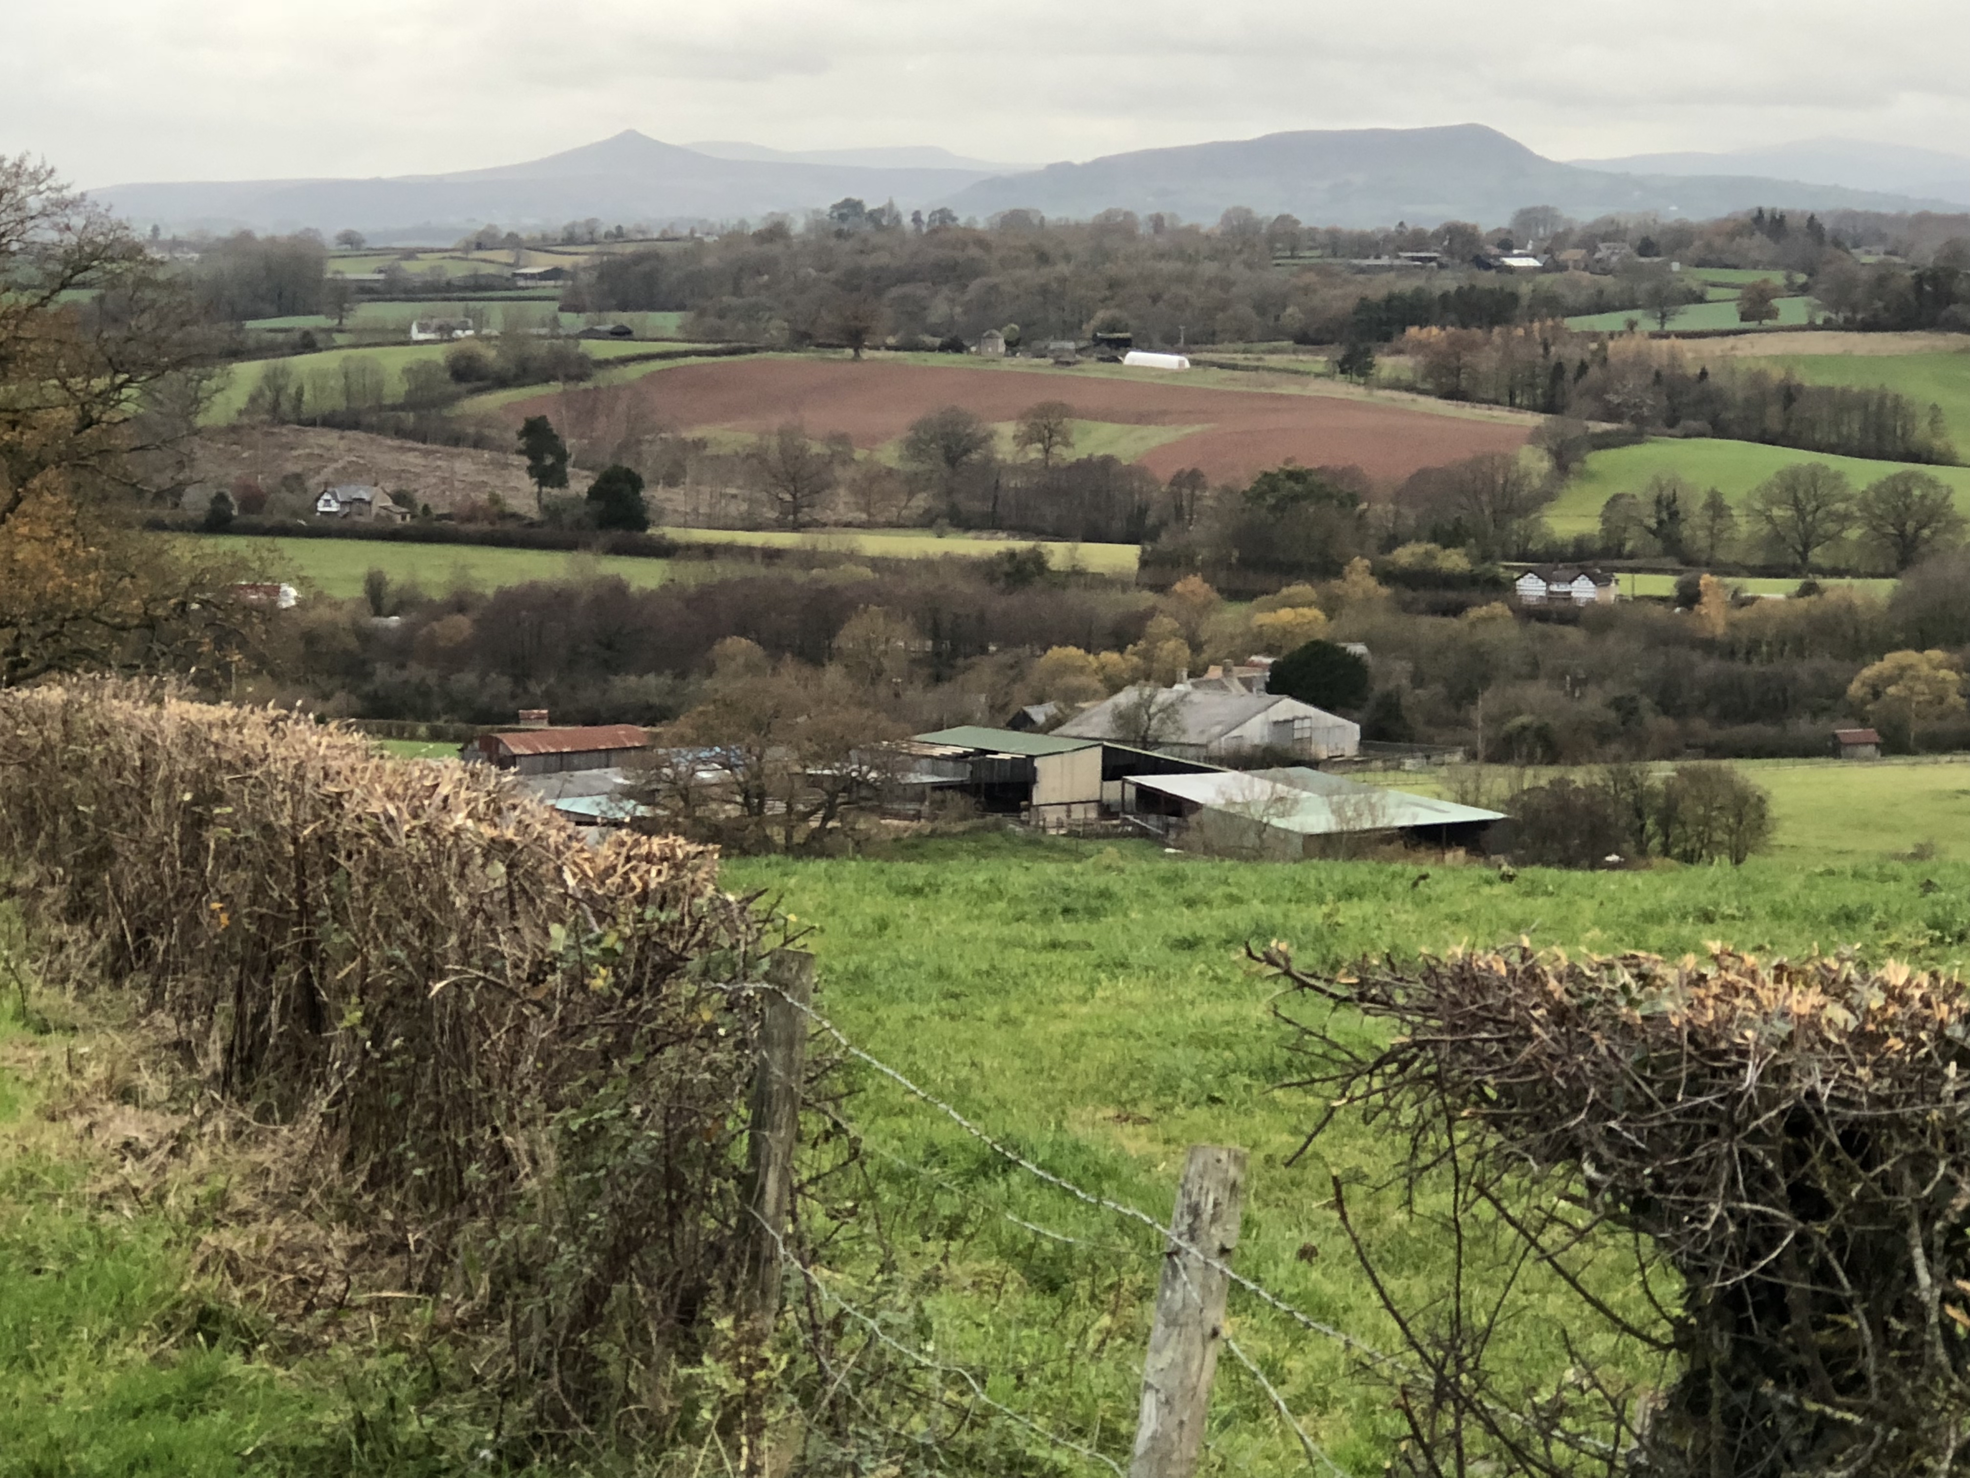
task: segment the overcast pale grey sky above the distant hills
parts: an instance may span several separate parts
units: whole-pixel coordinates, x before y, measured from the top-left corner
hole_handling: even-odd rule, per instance
[[[1552,158],[1970,154],[1960,0],[0,0],[0,154],[81,185],[471,169],[638,128],[1085,160],[1483,122]]]

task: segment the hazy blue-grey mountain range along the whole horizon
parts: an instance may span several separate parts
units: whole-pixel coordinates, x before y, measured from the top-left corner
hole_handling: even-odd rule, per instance
[[[1970,164],[1925,150],[1856,154],[1858,162],[1838,166],[1834,144],[1838,140],[1795,146],[1818,148],[1818,154],[1797,158],[1812,166],[1808,173],[1850,169],[1848,177],[1868,177],[1879,173],[1877,164],[1889,154],[1925,156],[1921,166],[1899,158],[1895,181],[1942,179],[1958,166],[1970,179]],[[1765,154],[1795,158],[1783,150]],[[979,219],[1015,207],[1082,219],[1119,207],[1215,221],[1225,207],[1249,205],[1263,215],[1290,211],[1308,225],[1340,227],[1450,219],[1499,225],[1521,205],[1556,205],[1580,219],[1643,211],[1716,217],[1753,205],[1958,209],[1950,195],[1903,183],[1870,189],[1828,177],[1767,175],[1749,164],[1738,168],[1747,158],[1641,156],[1560,164],[1493,128],[1460,124],[1267,134],[1009,173],[936,148],[784,154],[725,142],[682,148],[626,130],[599,144],[492,169],[388,179],[110,185],[91,193],[140,227],[160,225],[173,233],[353,227],[376,240],[404,242],[443,242],[481,225],[538,229],[589,217],[652,227],[758,221],[774,211],[820,209],[845,195],[871,205],[894,199],[904,211],[948,205],[959,217]],[[1696,160],[1704,168],[1655,168],[1665,160]]]

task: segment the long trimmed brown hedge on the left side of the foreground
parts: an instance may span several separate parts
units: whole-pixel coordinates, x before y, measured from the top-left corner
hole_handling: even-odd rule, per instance
[[[81,684],[0,692],[0,871],[67,979],[132,993],[502,1326],[536,1429],[662,1417],[739,1253],[753,1019],[719,987],[760,926],[713,851],[589,847],[477,767]]]

